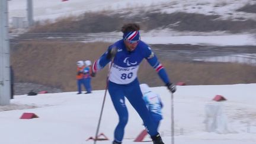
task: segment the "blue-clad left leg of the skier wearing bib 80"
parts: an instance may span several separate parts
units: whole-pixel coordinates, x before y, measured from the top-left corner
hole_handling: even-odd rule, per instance
[[[128,121],[128,111],[124,102],[124,92],[123,87],[113,82],[109,82],[108,91],[111,96],[114,108],[119,115],[119,123],[114,130],[114,141],[121,142],[124,136],[124,127]]]

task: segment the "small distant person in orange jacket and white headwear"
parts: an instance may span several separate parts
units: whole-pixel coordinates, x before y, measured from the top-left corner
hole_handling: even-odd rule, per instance
[[[82,89],[81,85],[84,85],[85,87],[85,79],[84,79],[84,61],[79,60],[76,62],[77,68],[76,68],[76,81],[77,81],[77,86],[78,86],[78,93],[77,94],[82,94]]]

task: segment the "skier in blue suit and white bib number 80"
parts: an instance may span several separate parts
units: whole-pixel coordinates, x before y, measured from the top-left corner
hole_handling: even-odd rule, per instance
[[[124,97],[129,100],[133,108],[137,111],[149,135],[153,140],[153,144],[164,144],[162,138],[157,131],[156,124],[153,122],[148,108],[142,99],[139,81],[137,79],[137,71],[139,64],[143,59],[155,69],[162,81],[171,92],[176,91],[176,87],[169,81],[164,66],[158,61],[151,48],[140,40],[140,26],[135,23],[124,24],[121,28],[123,39],[116,41],[108,47],[98,60],[92,65],[92,73],[100,71],[105,65],[111,63],[108,75],[108,91],[114,108],[119,115],[119,123],[114,130],[113,144],[120,144],[124,136],[124,127],[128,121],[128,111],[124,101]]]

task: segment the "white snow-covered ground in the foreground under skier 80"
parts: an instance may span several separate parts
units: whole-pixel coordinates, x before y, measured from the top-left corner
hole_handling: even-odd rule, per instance
[[[178,86],[174,94],[174,121],[176,144],[254,144],[256,143],[256,84],[194,85]],[[159,132],[166,144],[171,143],[171,94],[165,87],[152,91],[161,95],[164,103]],[[227,100],[212,101],[215,95]],[[15,95],[11,105],[0,106],[1,143],[16,144],[81,144],[95,136],[104,90],[92,94],[76,95],[76,92],[39,94],[36,96]],[[124,144],[133,140],[143,130],[142,120],[126,101],[129,108],[129,123],[124,135]],[[229,132],[219,134],[206,132],[206,105],[222,105],[227,117]],[[11,110],[25,108],[23,110]],[[31,108],[31,109],[28,109]],[[34,113],[39,118],[20,119],[23,113]],[[113,140],[117,114],[107,93],[100,133],[110,140],[97,143],[107,144]],[[148,136],[145,140],[149,140]],[[136,142],[152,143],[152,142]]]

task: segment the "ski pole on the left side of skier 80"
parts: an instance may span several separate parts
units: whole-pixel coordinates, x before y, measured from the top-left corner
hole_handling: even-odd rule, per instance
[[[97,142],[97,139],[98,139],[98,132],[100,130],[100,123],[101,123],[101,117],[102,117],[102,114],[103,114],[103,108],[104,108],[104,104],[105,104],[105,97],[107,95],[107,89],[108,89],[108,76],[110,74],[110,69],[113,65],[113,60],[114,60],[114,57],[113,59],[111,60],[111,63],[110,63],[110,68],[108,69],[108,73],[107,73],[107,84],[106,84],[106,87],[105,87],[105,94],[104,94],[104,98],[103,98],[103,104],[101,105],[101,113],[100,113],[100,119],[98,120],[98,126],[97,126],[97,130],[96,130],[96,133],[95,133],[95,139],[94,139],[94,144],[96,144]]]

